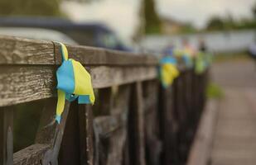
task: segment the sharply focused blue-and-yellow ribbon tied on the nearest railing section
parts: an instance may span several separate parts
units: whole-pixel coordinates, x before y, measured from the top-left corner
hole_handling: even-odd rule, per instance
[[[80,62],[69,59],[68,51],[62,43],[62,64],[56,72],[58,102],[56,107],[56,121],[60,124],[61,114],[64,111],[65,99],[79,104],[94,104],[94,90],[89,73]]]

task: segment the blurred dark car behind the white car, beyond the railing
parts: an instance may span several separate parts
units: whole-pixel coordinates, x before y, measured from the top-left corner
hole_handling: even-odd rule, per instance
[[[132,51],[123,45],[121,40],[109,27],[97,22],[75,23],[53,17],[0,17],[0,26],[4,27],[34,27],[60,31],[70,36],[80,45],[107,48],[111,50]]]

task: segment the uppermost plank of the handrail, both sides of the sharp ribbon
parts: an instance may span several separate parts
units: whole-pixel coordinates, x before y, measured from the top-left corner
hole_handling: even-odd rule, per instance
[[[30,40],[0,35],[0,64],[60,64],[60,45],[42,40]],[[54,52],[56,47],[56,61]],[[121,51],[88,46],[67,46],[70,58],[89,65],[156,65],[157,59]]]

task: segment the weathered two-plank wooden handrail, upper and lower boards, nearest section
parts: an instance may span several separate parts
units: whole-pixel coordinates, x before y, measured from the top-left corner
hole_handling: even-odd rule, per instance
[[[67,46],[70,58],[85,64],[93,87],[112,87],[157,78],[157,58],[86,46]],[[0,107],[56,95],[55,42],[0,36]]]

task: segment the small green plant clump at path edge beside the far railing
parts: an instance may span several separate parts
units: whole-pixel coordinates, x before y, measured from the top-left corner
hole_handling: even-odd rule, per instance
[[[208,98],[222,98],[224,96],[222,89],[213,82],[208,84],[206,90],[206,96]]]

